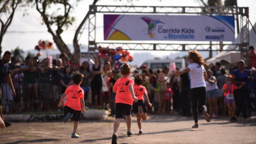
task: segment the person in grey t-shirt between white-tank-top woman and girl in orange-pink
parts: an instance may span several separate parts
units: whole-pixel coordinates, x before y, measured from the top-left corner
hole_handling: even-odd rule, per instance
[[[225,116],[226,106],[224,106],[224,92],[223,85],[226,83],[227,76],[225,68],[220,69],[220,76],[217,77],[216,82],[219,89],[219,104],[221,116]]]

